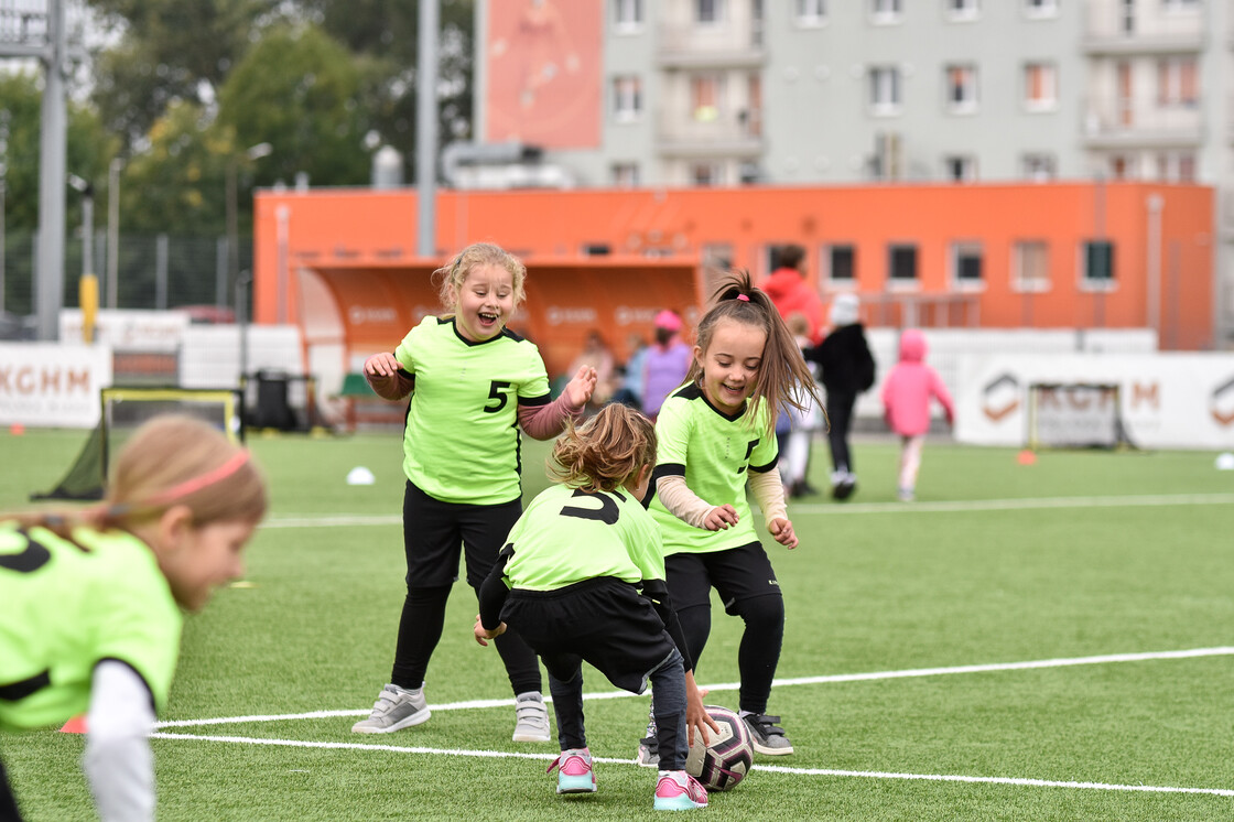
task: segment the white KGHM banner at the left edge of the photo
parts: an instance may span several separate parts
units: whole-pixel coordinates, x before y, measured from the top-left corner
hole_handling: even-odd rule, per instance
[[[111,385],[111,348],[0,343],[0,425],[93,428],[99,389]]]

